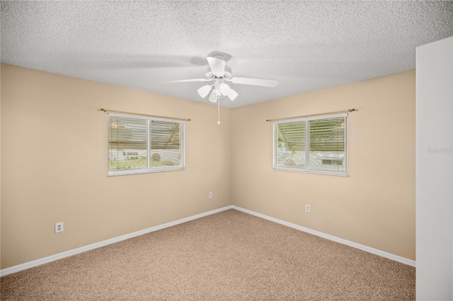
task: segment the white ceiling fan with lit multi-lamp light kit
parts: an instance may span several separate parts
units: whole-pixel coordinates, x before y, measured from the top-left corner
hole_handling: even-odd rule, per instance
[[[222,96],[227,96],[230,100],[235,100],[238,93],[231,89],[226,81],[231,83],[240,83],[244,85],[260,85],[263,87],[275,87],[278,81],[273,79],[231,77],[231,73],[225,70],[225,59],[221,54],[214,54],[207,57],[207,64],[210,65],[210,71],[206,73],[206,78],[182,79],[178,81],[163,81],[161,83],[188,83],[193,81],[213,81],[212,84],[203,85],[197,90],[198,94],[205,98],[210,94],[210,102],[217,102]]]

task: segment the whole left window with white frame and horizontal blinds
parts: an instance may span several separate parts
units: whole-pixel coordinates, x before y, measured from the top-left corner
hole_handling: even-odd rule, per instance
[[[184,169],[184,122],[108,114],[108,175]]]

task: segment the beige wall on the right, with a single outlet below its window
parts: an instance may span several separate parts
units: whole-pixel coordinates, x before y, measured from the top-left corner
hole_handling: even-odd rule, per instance
[[[349,177],[273,170],[266,119],[352,108]],[[415,71],[239,107],[232,129],[234,205],[415,259]]]

